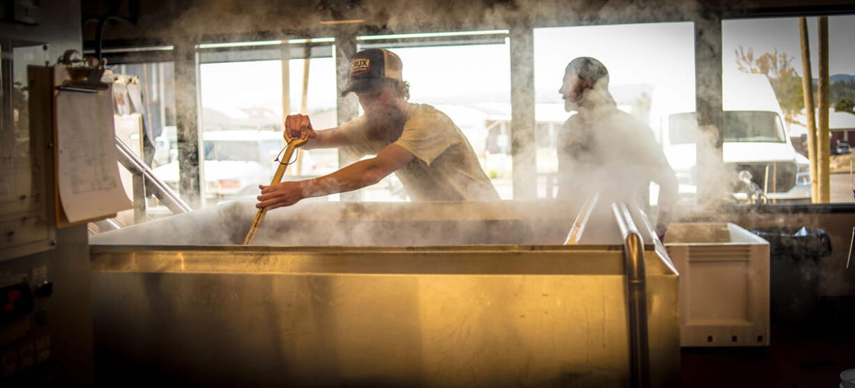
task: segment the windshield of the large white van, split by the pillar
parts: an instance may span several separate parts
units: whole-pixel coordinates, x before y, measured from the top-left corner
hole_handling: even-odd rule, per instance
[[[694,112],[670,115],[670,144],[694,144],[698,124]],[[781,118],[775,112],[728,110],[724,112],[724,141],[731,143],[786,143]]]

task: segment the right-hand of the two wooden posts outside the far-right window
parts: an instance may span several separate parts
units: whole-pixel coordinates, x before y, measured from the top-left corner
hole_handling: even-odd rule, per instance
[[[819,203],[831,200],[829,190],[828,158],[831,153],[828,144],[828,16],[819,17],[819,85],[817,85],[817,105],[819,122],[817,126],[817,194]]]

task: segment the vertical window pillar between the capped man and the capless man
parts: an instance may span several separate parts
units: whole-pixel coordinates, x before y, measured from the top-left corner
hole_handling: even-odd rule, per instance
[[[531,26],[512,26],[510,28],[510,155],[513,165],[514,199],[537,198],[537,158],[534,136],[534,29]]]

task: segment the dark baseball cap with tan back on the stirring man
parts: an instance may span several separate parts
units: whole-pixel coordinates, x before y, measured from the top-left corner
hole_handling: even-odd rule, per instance
[[[345,96],[351,91],[376,91],[383,85],[385,79],[401,78],[404,64],[401,58],[392,51],[385,49],[369,49],[357,52],[351,59],[351,83],[345,91]]]

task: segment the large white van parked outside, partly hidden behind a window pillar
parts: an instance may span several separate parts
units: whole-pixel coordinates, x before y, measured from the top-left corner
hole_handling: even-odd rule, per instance
[[[770,203],[810,203],[810,162],[793,148],[784,126],[781,105],[763,74],[723,73],[722,184],[733,197],[747,198],[737,174],[748,171]],[[696,140],[699,135],[694,98],[654,91],[651,128],[680,182],[682,203],[696,199]]]

